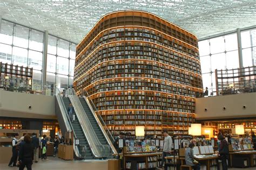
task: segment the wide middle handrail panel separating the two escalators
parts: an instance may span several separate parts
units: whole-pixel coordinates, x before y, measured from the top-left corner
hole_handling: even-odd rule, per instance
[[[100,148],[104,148],[104,145],[102,145],[99,139],[97,138],[97,135],[93,130],[93,127],[83,109],[82,104],[80,103],[78,97],[75,95],[75,91],[73,91],[73,89],[72,90],[69,89],[66,91],[66,94],[68,95],[72,105],[74,106],[75,113],[77,114],[77,119],[79,120],[79,123],[82,127],[82,130],[85,134],[85,137],[87,139],[87,142],[91,148],[93,155],[96,158],[104,157],[103,153],[100,152]],[[86,132],[89,132],[89,133],[86,133]]]

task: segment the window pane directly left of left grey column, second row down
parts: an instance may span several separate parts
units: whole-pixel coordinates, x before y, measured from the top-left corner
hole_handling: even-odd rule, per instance
[[[29,67],[33,69],[42,70],[43,53],[29,50]]]

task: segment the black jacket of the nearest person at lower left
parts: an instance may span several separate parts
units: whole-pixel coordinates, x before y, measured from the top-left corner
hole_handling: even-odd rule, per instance
[[[32,160],[33,155],[33,145],[31,143],[22,142],[21,147],[19,147],[19,161]]]

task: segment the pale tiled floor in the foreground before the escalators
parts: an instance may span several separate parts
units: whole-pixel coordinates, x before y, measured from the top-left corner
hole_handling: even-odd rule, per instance
[[[1,170],[18,169],[17,167],[8,167],[7,164],[0,164]],[[48,157],[48,160],[39,160],[37,164],[32,165],[32,169],[45,170],[107,170],[106,160],[93,160],[93,161],[64,161],[59,158]],[[231,170],[256,170],[256,167],[252,168],[230,168]]]

